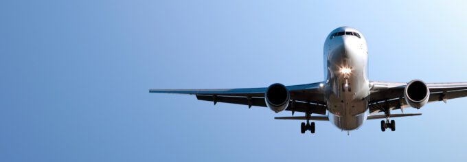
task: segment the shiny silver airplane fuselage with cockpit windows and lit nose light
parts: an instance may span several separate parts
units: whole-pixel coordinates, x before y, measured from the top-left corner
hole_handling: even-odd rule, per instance
[[[367,43],[361,32],[339,27],[326,38],[323,52],[329,120],[341,130],[354,130],[368,115]]]

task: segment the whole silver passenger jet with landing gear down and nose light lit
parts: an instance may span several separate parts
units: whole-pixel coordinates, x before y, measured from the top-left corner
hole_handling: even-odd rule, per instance
[[[356,130],[366,120],[381,120],[381,131],[396,130],[391,117],[408,117],[421,113],[404,113],[404,108],[420,109],[428,102],[446,102],[467,96],[467,82],[425,83],[379,82],[368,79],[368,51],[365,37],[352,27],[338,27],[326,37],[323,47],[322,82],[284,86],[280,83],[251,89],[150,89],[150,93],[196,95],[198,100],[269,107],[275,113],[291,111],[292,119],[301,123],[301,133],[315,133],[315,122],[329,121],[342,131]],[[394,114],[391,111],[400,110]],[[295,112],[304,116],[293,116]],[[316,114],[316,115],[312,115]]]

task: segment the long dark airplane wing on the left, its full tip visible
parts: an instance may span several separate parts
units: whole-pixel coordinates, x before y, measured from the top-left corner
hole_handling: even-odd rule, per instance
[[[291,104],[286,111],[326,114],[326,102],[319,89],[321,82],[286,86],[291,95]],[[150,89],[150,93],[174,93],[196,95],[198,100],[210,101],[216,104],[224,102],[229,104],[243,104],[249,106],[266,107],[264,93],[266,87],[251,89]]]

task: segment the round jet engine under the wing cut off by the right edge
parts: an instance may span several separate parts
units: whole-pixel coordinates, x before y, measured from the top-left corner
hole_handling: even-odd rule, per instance
[[[428,102],[430,89],[422,80],[412,80],[405,86],[404,96],[409,106],[419,109]]]

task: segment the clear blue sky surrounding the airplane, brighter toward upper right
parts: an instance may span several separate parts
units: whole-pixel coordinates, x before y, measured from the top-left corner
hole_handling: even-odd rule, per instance
[[[465,1],[2,1],[0,161],[465,161],[467,98],[341,132],[148,89],[323,80],[334,28],[369,78],[467,82]]]

